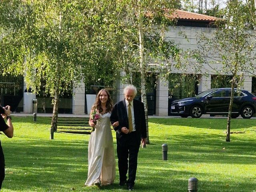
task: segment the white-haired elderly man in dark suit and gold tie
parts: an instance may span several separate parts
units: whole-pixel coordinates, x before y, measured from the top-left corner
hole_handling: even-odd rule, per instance
[[[142,141],[144,144],[147,140],[144,104],[134,99],[136,93],[135,86],[126,86],[124,88],[125,99],[114,105],[110,117],[112,123],[119,121],[119,125],[114,128],[117,142],[119,184],[120,186],[126,184],[129,191],[134,190],[140,142]]]

